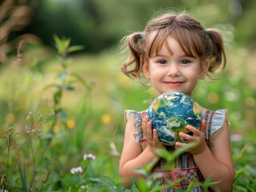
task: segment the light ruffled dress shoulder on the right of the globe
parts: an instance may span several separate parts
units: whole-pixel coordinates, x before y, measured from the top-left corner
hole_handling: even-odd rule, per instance
[[[223,129],[229,128],[228,110],[203,110],[203,119],[206,122],[205,139],[209,146],[213,146],[213,138]]]

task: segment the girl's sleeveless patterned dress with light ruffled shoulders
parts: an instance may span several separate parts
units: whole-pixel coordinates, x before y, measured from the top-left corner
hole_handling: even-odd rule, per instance
[[[143,130],[141,127],[141,122],[143,118],[147,115],[147,110],[137,112],[135,110],[125,110],[124,118],[127,122],[128,118],[134,120],[134,126],[137,132],[134,133],[135,142],[142,147],[144,150],[147,146],[147,140],[144,137]],[[203,119],[207,124],[205,132],[205,142],[208,146],[214,146],[213,138],[223,130],[224,126],[228,126],[227,121],[227,110],[206,110]],[[173,146],[166,146],[166,150],[174,150]],[[207,162],[205,162],[207,163]],[[174,161],[174,168],[172,170],[166,170],[166,161],[161,158],[156,165],[152,168],[152,173],[157,174],[157,180],[161,180],[161,184],[165,185],[168,181],[177,181],[181,179],[175,187],[180,190],[187,190],[190,182],[197,180],[199,182],[204,182],[205,179],[202,177],[200,170],[198,169],[196,163],[193,160],[193,155],[189,152],[185,152],[178,156]],[[174,192],[173,189],[161,190],[163,192]],[[193,186],[193,192],[204,191],[200,186]],[[208,191],[213,191],[209,189]]]

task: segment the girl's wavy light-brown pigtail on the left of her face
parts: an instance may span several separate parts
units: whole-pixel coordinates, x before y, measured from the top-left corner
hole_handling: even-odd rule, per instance
[[[130,34],[123,38],[123,47],[127,47],[129,56],[121,67],[122,72],[130,77],[131,75],[140,78],[143,63],[143,33]],[[134,66],[132,66],[134,65]]]

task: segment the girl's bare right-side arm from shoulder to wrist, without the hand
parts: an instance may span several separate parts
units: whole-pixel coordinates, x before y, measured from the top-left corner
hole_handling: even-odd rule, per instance
[[[225,122],[223,130],[213,139],[213,146],[206,147],[200,154],[194,154],[193,158],[204,178],[210,177],[213,182],[221,181],[211,187],[214,191],[231,190],[234,182],[234,165],[228,122]]]

